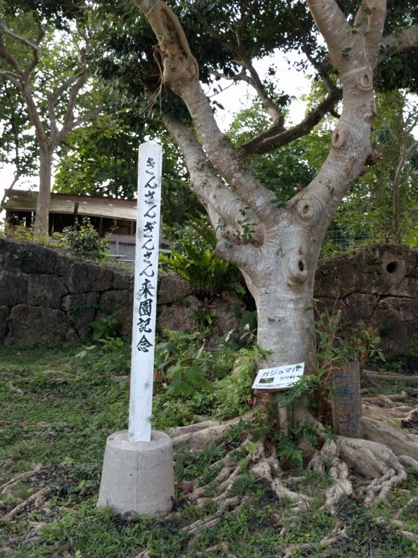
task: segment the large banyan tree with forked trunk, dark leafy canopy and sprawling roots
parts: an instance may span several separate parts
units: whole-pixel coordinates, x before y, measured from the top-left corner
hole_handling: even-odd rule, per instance
[[[128,28],[125,19],[123,32],[119,28],[116,35],[111,26],[106,31],[111,48],[102,56],[102,72],[117,76],[118,85],[125,88],[124,98],[130,94],[138,103],[148,100],[148,107],[160,111],[165,128],[183,151],[191,188],[217,234],[217,254],[238,266],[256,301],[257,342],[267,354],[263,368],[304,361],[307,372],[315,373],[312,303],[320,248],[350,184],[379,157],[369,141],[376,86],[387,90],[417,86],[413,67],[418,10],[409,1],[387,5],[385,0],[135,3],[141,16],[134,24]],[[286,96],[281,90],[286,73],[275,74],[272,61],[269,82],[254,65],[263,56],[280,57],[290,50],[299,53],[302,71],[309,61],[314,68],[309,71],[323,91],[323,98],[294,126],[286,124]],[[252,86],[270,117],[270,126],[239,146],[219,129],[203,89],[221,75]],[[284,199],[279,185],[273,191],[256,179],[249,158],[277,151],[311,133],[325,115],[334,117],[332,142],[310,183]],[[412,409],[395,411],[392,421],[396,416],[408,421]],[[293,418],[314,425],[321,437],[318,418],[297,402]],[[385,497],[401,483],[405,464],[418,471],[418,438],[393,428],[386,419],[382,409],[368,405],[364,438],[335,437],[314,452],[311,467],[331,464],[334,486],[327,492],[331,509],[339,495],[353,490],[350,471],[370,480],[369,500]],[[222,428],[205,423],[181,439],[198,443]],[[251,455],[254,474],[270,479],[278,495],[290,497],[299,507],[309,503],[304,495],[286,488],[274,448],[260,443]],[[236,474],[233,470],[228,463],[222,469],[219,499],[228,498],[227,479]],[[202,494],[197,489],[196,499]]]

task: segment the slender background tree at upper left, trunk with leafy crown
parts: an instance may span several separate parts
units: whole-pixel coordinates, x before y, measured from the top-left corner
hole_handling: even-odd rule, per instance
[[[86,101],[91,32],[83,21],[82,11],[78,12],[73,4],[70,6],[71,24],[63,10],[59,13],[60,3],[32,6],[31,2],[18,2],[13,10],[6,2],[0,3],[1,85],[3,91],[13,85],[20,93],[19,102],[24,103],[36,135],[39,157],[36,234],[48,232],[56,149],[70,130],[93,119],[101,110],[88,107]],[[56,20],[50,23],[52,8]]]

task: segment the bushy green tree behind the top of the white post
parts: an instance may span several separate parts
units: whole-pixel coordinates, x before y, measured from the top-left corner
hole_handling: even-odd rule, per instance
[[[61,144],[54,191],[133,199],[137,193],[138,146],[154,135],[152,123],[141,115],[132,119],[117,105],[73,130]],[[166,225],[184,223],[203,210],[190,190],[187,169],[169,134],[158,133],[164,149],[162,164],[162,217]]]

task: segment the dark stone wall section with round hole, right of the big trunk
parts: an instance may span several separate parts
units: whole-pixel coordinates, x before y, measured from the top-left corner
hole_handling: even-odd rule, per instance
[[[418,349],[417,250],[379,244],[332,257],[318,266],[314,296],[357,329],[376,329],[387,357]]]

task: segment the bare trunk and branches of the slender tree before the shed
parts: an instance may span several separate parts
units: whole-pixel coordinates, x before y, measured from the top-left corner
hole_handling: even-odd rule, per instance
[[[40,150],[39,156],[39,193],[36,204],[35,235],[44,236],[49,232],[49,201],[52,187],[52,163],[56,149],[71,130],[93,119],[100,114],[98,107],[75,119],[75,109],[79,93],[88,80],[86,52],[89,38],[84,30],[77,27],[79,35],[84,39],[84,47],[79,49],[81,71],[72,75],[57,86],[44,101],[47,101],[47,114],[42,114],[40,105],[32,89],[33,73],[39,64],[39,53],[45,29],[39,25],[39,33],[33,42],[26,37],[14,33],[6,24],[0,22],[0,59],[6,62],[6,69],[0,70],[0,77],[13,84],[22,94],[29,119],[35,128],[36,140]],[[3,35],[17,40],[31,51],[31,59],[26,67],[10,53],[3,40]],[[62,116],[57,116],[57,108]]]

